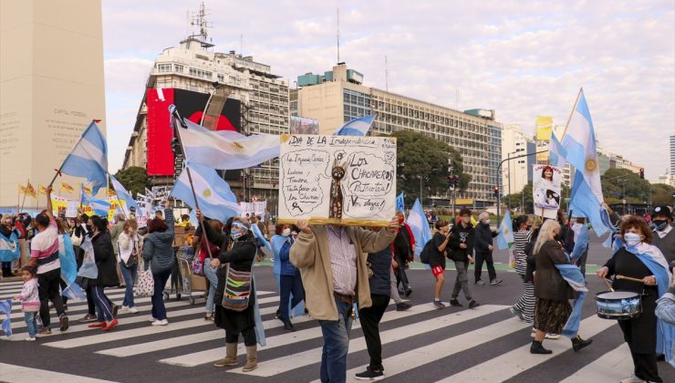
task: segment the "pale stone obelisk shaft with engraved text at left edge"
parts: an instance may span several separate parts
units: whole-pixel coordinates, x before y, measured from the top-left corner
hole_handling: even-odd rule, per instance
[[[105,113],[100,1],[0,2],[0,207],[47,185],[92,119],[105,134]]]

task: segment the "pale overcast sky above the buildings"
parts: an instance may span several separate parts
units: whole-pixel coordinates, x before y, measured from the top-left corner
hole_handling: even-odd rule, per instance
[[[200,2],[103,0],[111,171],[124,158],[152,63],[178,45]],[[458,109],[495,109],[533,133],[536,116],[564,125],[584,88],[600,146],[655,180],[675,134],[675,2],[205,2],[216,51],[240,51],[292,84],[340,60],[364,85]],[[240,36],[243,38],[243,46]],[[459,98],[457,98],[459,94]]]

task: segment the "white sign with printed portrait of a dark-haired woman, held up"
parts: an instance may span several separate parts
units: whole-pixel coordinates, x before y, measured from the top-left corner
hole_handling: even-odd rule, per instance
[[[556,218],[560,207],[562,170],[555,166],[534,165],[532,174],[535,214],[545,218]]]

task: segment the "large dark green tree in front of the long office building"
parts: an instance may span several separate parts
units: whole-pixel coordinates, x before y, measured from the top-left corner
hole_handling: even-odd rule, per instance
[[[397,139],[397,192],[405,193],[406,203],[420,197],[420,184],[423,197],[447,191],[451,174],[460,176],[459,189],[465,190],[469,185],[472,177],[464,173],[462,154],[445,142],[409,130],[397,131],[390,137]]]

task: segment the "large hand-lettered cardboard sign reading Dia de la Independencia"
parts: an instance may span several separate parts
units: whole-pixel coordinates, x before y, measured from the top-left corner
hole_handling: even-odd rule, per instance
[[[282,135],[279,223],[385,226],[396,213],[396,139]]]

